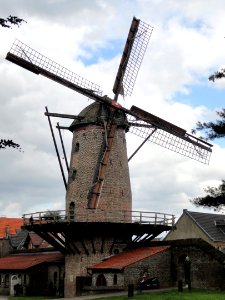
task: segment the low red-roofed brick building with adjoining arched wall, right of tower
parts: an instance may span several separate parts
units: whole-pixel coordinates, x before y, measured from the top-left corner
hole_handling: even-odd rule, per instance
[[[184,285],[190,281],[193,288],[225,288],[225,254],[204,240],[151,244],[151,247],[127,250],[91,266],[92,285],[84,290],[126,290],[129,284],[138,289],[143,276],[145,279],[157,277],[160,287],[176,287],[181,280]]]

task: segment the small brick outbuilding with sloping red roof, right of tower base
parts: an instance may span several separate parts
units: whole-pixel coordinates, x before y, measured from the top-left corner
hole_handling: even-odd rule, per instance
[[[143,278],[152,277],[157,277],[162,287],[171,286],[169,250],[170,246],[127,250],[91,266],[92,291],[126,290],[129,284],[138,288]]]

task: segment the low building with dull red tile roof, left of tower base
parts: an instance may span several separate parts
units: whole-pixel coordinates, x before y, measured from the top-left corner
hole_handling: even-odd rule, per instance
[[[0,258],[0,294],[63,296],[64,274],[61,253],[11,254]]]

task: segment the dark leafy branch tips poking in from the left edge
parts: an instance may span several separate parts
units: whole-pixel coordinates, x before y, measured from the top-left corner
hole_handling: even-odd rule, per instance
[[[11,25],[17,25],[18,27],[23,23],[26,22],[23,19],[20,19],[16,16],[9,16],[6,19],[0,18],[0,26],[5,28],[12,28]],[[19,149],[21,151],[20,145],[14,143],[12,140],[0,140],[0,149],[5,149],[6,147],[12,147]]]

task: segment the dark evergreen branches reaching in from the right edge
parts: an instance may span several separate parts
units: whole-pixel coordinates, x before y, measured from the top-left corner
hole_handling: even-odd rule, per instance
[[[215,81],[216,79],[225,77],[225,69],[215,72],[209,77],[209,80]],[[219,119],[215,122],[201,123],[198,122],[194,132],[203,131],[208,140],[225,137],[225,108],[217,111]],[[222,180],[218,187],[207,187],[204,189],[207,193],[204,197],[197,197],[191,200],[195,206],[203,206],[207,208],[214,208],[220,211],[225,207],[225,180]]]

